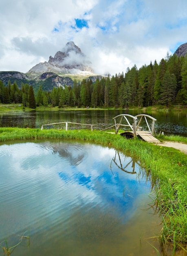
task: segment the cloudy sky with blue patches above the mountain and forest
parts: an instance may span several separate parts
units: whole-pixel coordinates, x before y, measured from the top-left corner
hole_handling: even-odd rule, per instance
[[[0,0],[0,71],[26,73],[69,41],[95,74],[159,63],[187,43],[187,1]]]

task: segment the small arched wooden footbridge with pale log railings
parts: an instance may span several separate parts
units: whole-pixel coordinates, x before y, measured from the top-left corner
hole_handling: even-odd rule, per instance
[[[152,124],[150,125],[147,121],[147,118],[152,120]],[[126,137],[141,137],[143,140],[148,141],[148,142],[155,142],[158,143],[160,142],[158,139],[154,137],[155,129],[154,129],[154,124],[156,119],[154,117],[151,117],[149,115],[145,114],[140,114],[136,116],[128,115],[128,114],[121,114],[117,115],[114,119],[114,125],[110,126],[106,129],[115,127],[115,133],[117,134],[119,131],[120,127],[128,127],[129,129],[121,133],[121,135],[125,135]],[[131,123],[129,119],[131,119]],[[140,126],[141,122],[145,120],[145,124],[147,126],[147,130],[143,130],[143,128]],[[124,124],[125,121],[125,124]],[[150,127],[151,126],[151,127]]]

